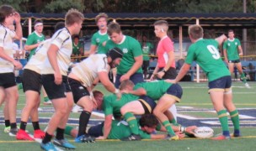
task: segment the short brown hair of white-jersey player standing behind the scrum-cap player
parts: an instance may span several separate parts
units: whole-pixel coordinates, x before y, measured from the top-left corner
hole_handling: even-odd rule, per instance
[[[71,26],[74,23],[78,23],[79,21],[83,21],[84,16],[83,13],[80,13],[77,9],[71,8],[65,15],[65,24],[66,26]]]

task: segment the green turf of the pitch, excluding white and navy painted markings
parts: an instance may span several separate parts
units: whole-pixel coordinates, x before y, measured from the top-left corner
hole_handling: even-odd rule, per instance
[[[246,89],[243,87],[242,82],[233,82],[233,101],[238,108],[255,108],[255,88],[256,83],[250,82],[252,89]],[[177,104],[177,107],[195,107],[201,109],[213,109],[211,105],[211,100],[207,92],[207,82],[201,82],[199,84],[195,82],[181,82],[180,85],[184,89],[184,95],[182,101]],[[96,89],[103,91],[103,86],[97,86]],[[24,107],[24,93],[19,91],[19,105],[18,110],[22,110]],[[104,94],[109,94],[109,92],[104,91]],[[52,107],[44,106],[41,107]],[[3,111],[3,107],[0,107]],[[180,112],[180,114],[193,116],[193,117],[216,117],[215,113],[211,112]],[[20,113],[17,114],[20,117]],[[0,113],[3,117],[3,112]],[[51,117],[51,113],[40,113],[40,117]],[[72,118],[78,118],[79,113],[71,113]],[[96,118],[96,117],[95,117]],[[41,124],[40,127],[44,129],[45,124]],[[40,150],[39,143],[30,143],[24,141],[17,141],[15,138],[9,137],[7,133],[3,133],[3,125],[0,125],[0,150]],[[29,124],[27,126],[29,132],[33,132],[32,126]],[[221,128],[214,128],[215,134],[221,133]],[[231,128],[232,132],[232,128]],[[185,138],[179,141],[167,141],[167,140],[157,140],[149,141],[143,140],[138,142],[121,142],[121,141],[98,141],[97,143],[73,143],[73,139],[67,136],[76,147],[77,150],[254,150],[256,142],[255,128],[242,128],[243,137],[242,138],[232,138],[230,141],[212,141],[208,139],[196,139],[196,138]]]

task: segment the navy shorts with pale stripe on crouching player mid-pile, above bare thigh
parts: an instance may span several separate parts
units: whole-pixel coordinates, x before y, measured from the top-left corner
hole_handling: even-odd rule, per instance
[[[141,102],[145,114],[152,113],[153,109],[157,106],[157,103],[149,96],[141,96],[138,101]]]

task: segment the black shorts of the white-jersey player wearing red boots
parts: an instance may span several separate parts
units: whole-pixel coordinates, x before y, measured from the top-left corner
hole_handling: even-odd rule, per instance
[[[21,75],[23,91],[37,91],[40,94],[42,87],[41,75],[34,70],[24,69]]]

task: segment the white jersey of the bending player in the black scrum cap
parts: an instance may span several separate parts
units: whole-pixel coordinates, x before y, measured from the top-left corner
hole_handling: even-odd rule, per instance
[[[92,86],[93,81],[98,77],[98,72],[108,72],[109,65],[107,56],[104,54],[89,55],[87,59],[76,64],[71,73],[77,76],[83,86]]]

